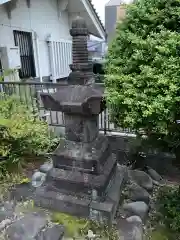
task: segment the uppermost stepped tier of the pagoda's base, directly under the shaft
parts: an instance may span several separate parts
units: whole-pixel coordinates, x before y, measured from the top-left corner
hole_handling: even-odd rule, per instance
[[[100,174],[101,165],[110,153],[108,139],[99,135],[93,142],[84,144],[65,139],[52,154],[52,159],[55,168],[79,168],[79,171]]]

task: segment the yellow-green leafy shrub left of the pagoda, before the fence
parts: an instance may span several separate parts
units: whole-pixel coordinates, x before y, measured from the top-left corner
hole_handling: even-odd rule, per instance
[[[52,150],[58,139],[49,133],[47,123],[27,109],[16,96],[1,97],[0,104],[0,169],[19,166],[29,156],[43,155]]]

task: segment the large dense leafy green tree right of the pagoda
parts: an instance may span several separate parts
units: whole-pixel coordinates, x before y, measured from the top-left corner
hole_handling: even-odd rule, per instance
[[[106,60],[112,120],[137,133],[143,129],[179,161],[180,0],[129,5]]]

